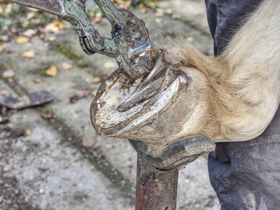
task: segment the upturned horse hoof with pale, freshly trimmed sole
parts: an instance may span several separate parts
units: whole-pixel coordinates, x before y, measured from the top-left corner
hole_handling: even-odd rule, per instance
[[[206,109],[207,78],[196,69],[172,64],[165,50],[156,54],[146,76],[130,81],[117,69],[104,80],[90,106],[98,134],[152,144],[195,135]]]

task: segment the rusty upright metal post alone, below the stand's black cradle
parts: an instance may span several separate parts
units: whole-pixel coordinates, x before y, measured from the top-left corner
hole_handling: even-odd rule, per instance
[[[136,210],[175,210],[178,169],[162,171],[137,157]]]

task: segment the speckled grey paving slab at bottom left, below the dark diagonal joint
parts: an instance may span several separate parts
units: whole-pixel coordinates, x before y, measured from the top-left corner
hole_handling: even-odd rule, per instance
[[[131,197],[63,141],[35,109],[15,113],[8,127],[32,131],[28,137],[13,139],[6,152],[5,141],[12,140],[0,138],[0,154],[5,160],[0,171],[4,178],[16,180],[15,192],[30,203],[29,209],[134,209]],[[3,198],[10,202],[8,195]],[[3,210],[8,209],[13,208]]]

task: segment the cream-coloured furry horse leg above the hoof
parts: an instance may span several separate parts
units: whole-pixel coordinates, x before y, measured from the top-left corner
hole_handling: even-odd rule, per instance
[[[176,49],[178,52],[178,48]],[[214,141],[258,137],[271,122],[280,98],[280,3],[265,0],[218,57],[207,57],[191,45],[180,48],[184,66],[202,71],[209,88],[190,135]]]

